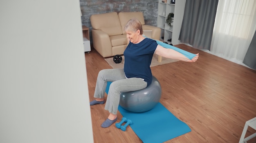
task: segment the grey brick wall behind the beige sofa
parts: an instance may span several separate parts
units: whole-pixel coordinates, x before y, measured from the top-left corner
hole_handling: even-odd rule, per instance
[[[80,0],[82,25],[92,29],[90,17],[93,14],[141,11],[145,24],[157,26],[157,6],[158,0]]]

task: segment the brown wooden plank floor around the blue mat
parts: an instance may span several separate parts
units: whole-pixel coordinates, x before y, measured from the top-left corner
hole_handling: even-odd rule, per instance
[[[256,71],[184,44],[175,46],[200,58],[151,67],[162,86],[160,102],[192,130],[166,143],[238,143],[245,121],[256,117]],[[112,67],[93,48],[85,60],[91,101],[98,72]],[[91,106],[94,143],[142,143],[130,127],[125,132],[115,125],[101,128],[109,114],[104,106]],[[119,111],[117,116],[121,121]],[[248,128],[246,137],[254,132]],[[247,143],[256,143],[256,137]]]

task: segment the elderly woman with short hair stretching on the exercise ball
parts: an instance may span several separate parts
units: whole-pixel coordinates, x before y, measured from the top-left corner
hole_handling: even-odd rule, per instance
[[[153,54],[185,62],[195,62],[199,57],[196,54],[192,59],[189,59],[180,52],[158,45],[153,39],[145,38],[142,36],[142,25],[137,19],[129,20],[124,30],[126,31],[126,37],[130,41],[124,51],[124,69],[101,70],[98,74],[94,91],[94,98],[96,99],[90,102],[91,106],[104,104],[107,82],[112,82],[105,105],[105,110],[109,111],[110,114],[106,121],[101,124],[103,128],[107,128],[117,121],[121,92],[137,91],[151,84],[150,64]]]

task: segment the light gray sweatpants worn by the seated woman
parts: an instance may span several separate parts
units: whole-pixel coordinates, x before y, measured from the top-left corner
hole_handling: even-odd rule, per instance
[[[124,69],[103,69],[97,77],[94,98],[104,97],[108,81],[112,83],[109,87],[105,110],[114,115],[117,114],[121,92],[137,91],[147,87],[147,82],[141,78],[126,78]]]

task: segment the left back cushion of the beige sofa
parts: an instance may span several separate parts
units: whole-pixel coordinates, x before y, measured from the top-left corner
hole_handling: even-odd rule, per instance
[[[93,29],[102,30],[109,36],[122,34],[117,12],[95,14],[90,17],[90,20]]]

